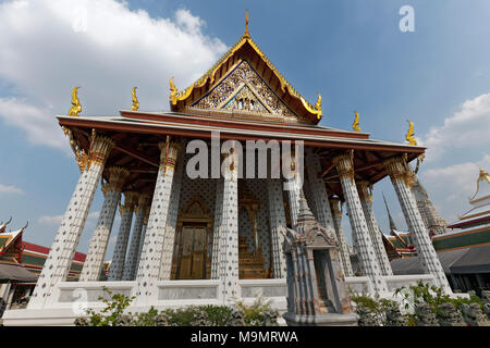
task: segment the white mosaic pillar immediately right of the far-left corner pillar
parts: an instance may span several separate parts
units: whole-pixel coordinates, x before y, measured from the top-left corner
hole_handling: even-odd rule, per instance
[[[128,175],[130,172],[123,167],[112,166],[109,169],[109,183],[102,184],[103,204],[82,269],[81,282],[97,282],[100,277],[115,210],[121,199],[122,187]]]

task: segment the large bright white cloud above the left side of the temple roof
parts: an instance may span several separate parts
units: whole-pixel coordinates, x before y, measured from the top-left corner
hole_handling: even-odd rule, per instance
[[[131,107],[169,108],[169,79],[180,88],[199,77],[225,50],[187,10],[152,18],[115,0],[36,0],[0,3],[0,79],[15,97],[0,98],[0,117],[34,144],[66,149],[54,119],[81,86],[82,115],[117,114]]]

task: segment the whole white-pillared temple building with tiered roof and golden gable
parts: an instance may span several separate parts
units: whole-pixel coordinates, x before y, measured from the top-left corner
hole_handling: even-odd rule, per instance
[[[170,111],[139,110],[136,88],[133,107],[118,116],[79,115],[77,88],[72,104],[58,122],[79,181],[27,309],[5,312],[5,325],[73,324],[75,294],[83,289],[97,306],[103,286],[135,296],[133,312],[233,304],[258,294],[285,311],[280,227],[296,226],[303,194],[335,236],[350,287],[390,296],[425,279],[451,293],[411,189],[408,163],[425,148],[370,138],[358,114],[352,130],[319,125],[320,95],[308,102],[275,69],[252,39],[248,15],[244,35],[200,78],[182,90],[170,80]],[[373,185],[387,176],[424,260],[414,276],[393,275],[372,211]],[[100,182],[97,227],[84,231]],[[118,206],[121,225],[101,281]],[[363,276],[353,273],[342,219],[350,220]],[[91,234],[87,257],[79,281],[66,282],[82,233]]]

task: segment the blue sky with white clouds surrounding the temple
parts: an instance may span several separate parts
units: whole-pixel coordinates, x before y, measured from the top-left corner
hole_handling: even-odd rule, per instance
[[[399,28],[406,4],[414,33]],[[403,142],[405,120],[413,121],[428,146],[419,177],[436,207],[449,221],[468,209],[478,167],[490,169],[489,1],[4,0],[0,220],[12,215],[12,228],[28,220],[25,239],[51,245],[79,175],[56,120],[75,85],[82,115],[127,109],[133,86],[140,110],[168,110],[169,78],[183,88],[207,71],[243,34],[245,9],[252,37],[290,83],[311,102],[321,94],[321,124],[351,129],[357,110],[371,137]],[[387,179],[375,186],[381,228],[388,232],[382,191],[406,228]]]

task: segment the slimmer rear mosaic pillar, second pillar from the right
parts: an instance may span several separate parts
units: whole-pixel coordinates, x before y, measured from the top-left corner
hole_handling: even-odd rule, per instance
[[[372,195],[369,191],[369,182],[357,182],[357,191],[359,192],[360,204],[363,206],[364,216],[371,235],[372,247],[375,248],[376,258],[381,268],[382,275],[393,275],[387,250],[384,249],[383,238],[372,211]]]

